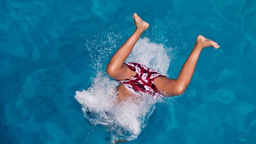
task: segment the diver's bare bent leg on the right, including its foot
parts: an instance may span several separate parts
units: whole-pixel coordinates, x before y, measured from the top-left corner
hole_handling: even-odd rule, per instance
[[[203,36],[198,36],[194,49],[190,53],[190,56],[183,65],[177,79],[169,79],[165,77],[159,77],[154,80],[154,84],[159,91],[164,92],[166,95],[181,95],[187,88],[190,80],[193,76],[194,69],[196,67],[197,60],[201,50],[204,47],[213,46],[215,49],[219,48],[219,45],[212,40],[206,39]]]

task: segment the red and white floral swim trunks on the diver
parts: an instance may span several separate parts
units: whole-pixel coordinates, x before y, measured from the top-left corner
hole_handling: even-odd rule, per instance
[[[162,94],[155,84],[153,84],[153,80],[158,78],[161,75],[158,71],[154,69],[147,68],[145,65],[141,65],[135,62],[124,63],[126,64],[132,71],[136,72],[135,76],[132,76],[130,79],[124,80],[116,80],[124,85],[130,92],[133,94],[150,94],[153,98],[157,97],[166,97],[167,95]]]

